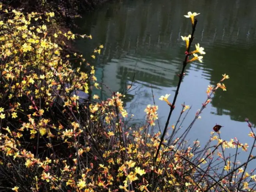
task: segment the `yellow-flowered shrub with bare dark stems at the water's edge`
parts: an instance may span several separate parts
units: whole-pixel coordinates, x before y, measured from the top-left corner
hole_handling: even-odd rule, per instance
[[[155,105],[145,109],[146,123],[133,129],[123,107],[121,93],[113,93],[106,101],[94,95],[81,98],[91,87],[98,87],[95,70],[82,55],[67,55],[65,41],[86,35],[50,31],[54,13],[24,14],[3,10],[0,5],[0,189],[1,191],[234,191],[253,190],[256,175],[246,172],[254,158],[240,165],[237,154],[248,151],[246,143],[234,138],[221,139],[220,132],[205,146],[199,141],[186,145],[185,137],[202,110],[223,81],[207,88],[202,108],[181,137],[179,119],[188,105],[182,105],[172,134],[166,138],[169,119],[181,85],[184,69],[193,61],[202,61],[204,48],[196,44],[190,52],[197,20],[188,13],[192,34],[186,42],[185,60],[179,74],[179,84],[170,103],[169,94],[160,100],[167,102],[170,114],[163,133],[149,133],[158,119]],[[192,17],[193,16],[193,17]],[[43,19],[45,18],[45,19]],[[100,53],[103,46],[95,49]],[[193,55],[193,58],[189,58]],[[72,67],[72,61],[86,65],[88,72]],[[225,149],[234,148],[235,156]],[[218,160],[218,163],[216,161]]]

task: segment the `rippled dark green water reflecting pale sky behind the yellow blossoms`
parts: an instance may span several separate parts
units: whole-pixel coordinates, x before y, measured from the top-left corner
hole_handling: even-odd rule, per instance
[[[184,59],[184,41],[191,31],[190,20],[183,15],[199,12],[195,43],[205,48],[204,62],[187,67],[181,84],[170,126],[176,122],[181,104],[192,105],[184,129],[196,110],[201,108],[208,85],[214,85],[222,74],[227,91],[218,90],[213,101],[201,114],[189,137],[206,140],[218,123],[223,139],[238,137],[249,142],[248,117],[256,124],[256,1],[254,0],[123,0],[112,1],[78,21],[80,34],[91,34],[92,40],[78,40],[78,51],[87,58],[103,44],[102,54],[89,62],[96,68],[98,81],[113,91],[123,92],[134,77],[135,88],[126,94],[127,111],[135,116],[132,122],[145,119],[144,108],[159,106],[159,123],[163,128],[169,113],[159,97],[171,94],[178,83],[176,76]],[[108,88],[95,92],[101,97]]]

